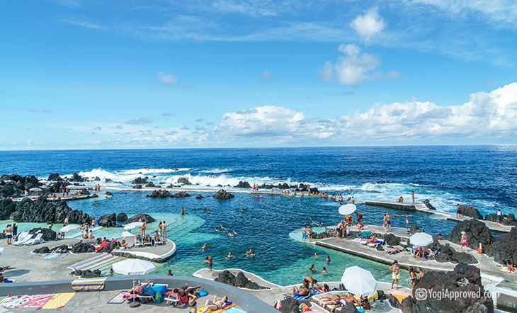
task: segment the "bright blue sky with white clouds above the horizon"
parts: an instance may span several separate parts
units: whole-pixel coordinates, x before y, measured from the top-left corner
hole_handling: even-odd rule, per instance
[[[0,149],[517,144],[517,3],[0,1]]]

